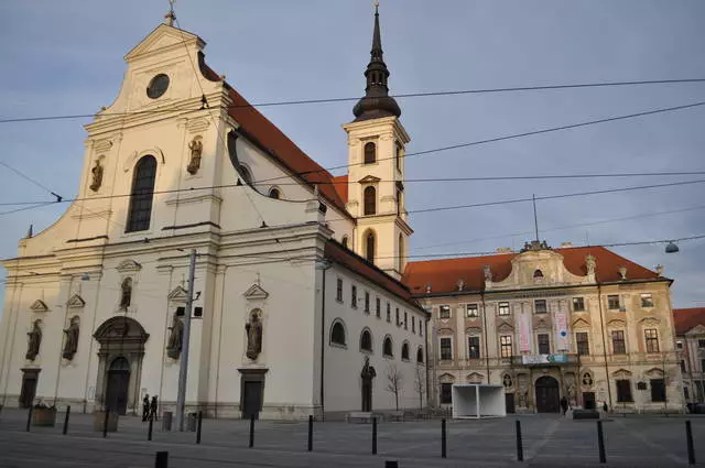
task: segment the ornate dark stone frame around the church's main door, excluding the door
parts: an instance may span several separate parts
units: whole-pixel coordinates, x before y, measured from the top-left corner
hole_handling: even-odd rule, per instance
[[[130,362],[130,387],[128,392],[128,410],[137,414],[139,410],[140,380],[142,377],[142,359],[144,344],[150,335],[142,325],[127,316],[116,316],[104,322],[94,338],[100,344],[98,350],[98,379],[96,382],[96,402],[105,405],[110,363],[120,357]]]

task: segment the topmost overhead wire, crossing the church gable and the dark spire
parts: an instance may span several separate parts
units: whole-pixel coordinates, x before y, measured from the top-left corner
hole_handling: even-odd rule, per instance
[[[180,28],[181,29],[181,28]],[[704,83],[705,78],[681,78],[681,79],[642,79],[630,81],[604,81],[604,83],[578,83],[568,85],[545,85],[545,86],[518,86],[518,87],[503,87],[503,88],[480,88],[480,89],[460,89],[449,91],[427,91],[427,92],[402,92],[398,95],[390,95],[390,97],[398,99],[406,99],[414,97],[442,97],[442,96],[459,96],[459,95],[480,95],[480,94],[500,94],[500,92],[525,92],[525,91],[541,91],[541,90],[556,90],[556,89],[581,89],[581,88],[604,88],[604,87],[621,87],[621,86],[644,86],[644,85],[674,85],[674,84],[687,84],[687,83]],[[323,98],[323,99],[296,99],[296,100],[281,100],[269,102],[256,102],[248,105],[232,105],[228,106],[228,109],[239,108],[257,108],[257,107],[275,107],[275,106],[299,106],[311,104],[332,104],[332,102],[350,102],[365,99],[365,97],[340,97],[340,98]],[[187,110],[187,109],[180,109]],[[150,113],[164,113],[172,112],[174,109],[151,109],[151,110],[138,110],[130,112],[104,112],[101,117],[117,117],[117,116],[139,116]],[[72,119],[87,119],[95,118],[97,112],[94,113],[73,113],[73,115],[58,115],[58,116],[35,116],[35,117],[15,117],[0,119],[0,123],[17,123],[17,122],[40,122],[47,120],[72,120]]]

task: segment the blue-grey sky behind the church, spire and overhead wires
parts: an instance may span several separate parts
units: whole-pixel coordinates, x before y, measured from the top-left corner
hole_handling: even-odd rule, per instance
[[[392,94],[705,78],[699,0],[382,0]],[[250,102],[356,97],[369,61],[372,1],[177,0],[206,62]],[[123,56],[161,21],[166,0],[0,2],[0,119],[90,113],[118,94]],[[409,153],[705,100],[705,83],[398,99]],[[260,110],[324,167],[347,162],[354,102]],[[89,119],[0,123],[0,162],[72,197]],[[705,106],[409,157],[406,178],[705,171]],[[334,171],[334,174],[341,172]],[[408,183],[424,209],[696,181],[705,175]],[[541,239],[558,247],[705,233],[705,184],[540,200]],[[1,203],[52,199],[0,165]],[[18,206],[0,206],[0,213]],[[0,214],[0,258],[17,255],[66,205]],[[412,214],[411,254],[519,249],[530,203]],[[579,225],[579,226],[576,226]],[[557,229],[562,228],[562,229]],[[705,240],[615,248],[665,266],[675,307],[705,306]],[[4,276],[4,272],[2,273]]]

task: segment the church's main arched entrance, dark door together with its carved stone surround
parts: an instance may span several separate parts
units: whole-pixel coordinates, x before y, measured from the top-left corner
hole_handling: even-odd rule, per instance
[[[100,344],[96,402],[120,414],[130,407],[135,412],[149,334],[135,319],[117,316],[104,322],[94,337]]]

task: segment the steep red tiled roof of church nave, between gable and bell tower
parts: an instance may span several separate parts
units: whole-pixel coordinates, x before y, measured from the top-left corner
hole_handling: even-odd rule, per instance
[[[198,58],[202,74],[206,79],[212,81],[223,80],[223,78],[205,64],[203,55],[199,55]],[[250,106],[228,83],[225,83],[225,85],[230,99],[232,99],[232,105],[230,109],[228,109],[228,113],[240,124],[240,129],[246,133],[246,137],[256,140],[254,143],[265,149],[272,157],[276,159],[304,182],[311,185],[317,184],[321,195],[340,210],[343,215],[350,217],[345,208],[345,199],[335,188],[337,185],[344,186],[347,198],[347,185],[332,184],[334,177],[328,171],[308,157],[308,155],[296,146],[276,126],[270,122],[267,117]]]

